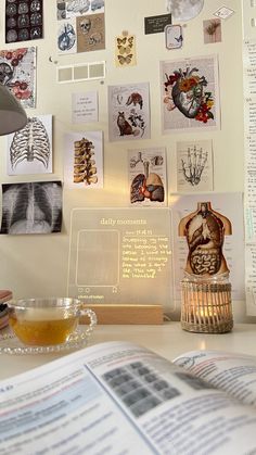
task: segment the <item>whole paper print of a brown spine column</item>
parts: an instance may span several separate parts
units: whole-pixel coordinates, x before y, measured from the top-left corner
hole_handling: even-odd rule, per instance
[[[64,141],[64,182],[67,188],[103,188],[102,131],[68,132]]]

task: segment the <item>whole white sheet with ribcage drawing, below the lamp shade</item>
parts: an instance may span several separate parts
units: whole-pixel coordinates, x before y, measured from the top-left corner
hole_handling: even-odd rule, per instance
[[[28,117],[8,135],[8,175],[52,173],[52,115]]]

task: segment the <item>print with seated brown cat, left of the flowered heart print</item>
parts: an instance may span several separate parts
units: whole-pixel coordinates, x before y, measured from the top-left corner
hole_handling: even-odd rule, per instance
[[[110,141],[150,139],[149,84],[108,87]]]

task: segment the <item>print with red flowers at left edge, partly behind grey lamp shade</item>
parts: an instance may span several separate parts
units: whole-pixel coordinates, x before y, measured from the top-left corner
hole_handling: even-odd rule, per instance
[[[36,108],[36,48],[0,50],[0,83],[24,108]]]

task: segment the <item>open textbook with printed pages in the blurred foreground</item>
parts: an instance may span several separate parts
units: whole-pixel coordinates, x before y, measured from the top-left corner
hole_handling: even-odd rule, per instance
[[[256,454],[256,357],[82,349],[0,381],[0,454]]]

